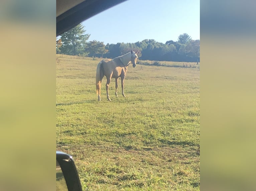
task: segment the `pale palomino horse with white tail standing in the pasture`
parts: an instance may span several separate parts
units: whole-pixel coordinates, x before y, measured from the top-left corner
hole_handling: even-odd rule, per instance
[[[121,77],[121,82],[122,82],[122,95],[124,95],[124,79],[125,79],[125,74],[127,72],[129,64],[132,62],[133,68],[136,67],[136,62],[137,62],[137,53],[133,51],[123,55],[114,58],[113,60],[111,59],[103,59],[97,66],[96,70],[96,91],[98,95],[98,101],[101,101],[101,81],[104,76],[107,77],[107,83],[106,83],[106,91],[107,91],[107,98],[109,101],[111,99],[109,98],[109,83],[111,82],[111,78],[116,79],[116,93],[115,95],[117,96],[117,87],[118,87],[118,79]]]

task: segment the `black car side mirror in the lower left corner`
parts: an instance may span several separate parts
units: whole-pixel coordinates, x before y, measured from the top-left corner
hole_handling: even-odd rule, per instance
[[[72,156],[56,151],[56,191],[82,191]]]

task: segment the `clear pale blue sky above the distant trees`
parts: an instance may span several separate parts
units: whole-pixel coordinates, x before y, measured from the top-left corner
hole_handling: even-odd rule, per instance
[[[200,0],[127,0],[83,22],[89,41],[116,44],[200,39]]]

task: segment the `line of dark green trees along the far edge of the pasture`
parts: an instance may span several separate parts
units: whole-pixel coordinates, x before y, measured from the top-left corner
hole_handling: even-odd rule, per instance
[[[200,62],[200,40],[192,40],[187,33],[178,36],[177,41],[156,42],[145,39],[136,43],[104,44],[100,41],[89,41],[90,34],[82,24],[61,34],[56,40],[56,53],[81,55],[88,57],[115,58],[131,50],[138,50],[141,60]]]

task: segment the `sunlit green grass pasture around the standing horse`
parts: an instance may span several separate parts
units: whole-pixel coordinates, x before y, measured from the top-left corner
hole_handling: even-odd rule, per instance
[[[200,190],[200,65],[129,66],[126,97],[104,77],[98,102],[100,59],[56,56],[56,149],[83,190]]]

